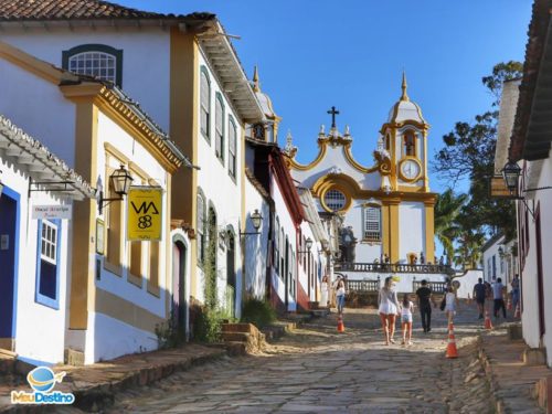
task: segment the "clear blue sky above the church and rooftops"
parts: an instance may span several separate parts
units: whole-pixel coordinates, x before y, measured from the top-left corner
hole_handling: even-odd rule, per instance
[[[531,0],[115,0],[142,10],[219,15],[251,77],[259,67],[262,89],[299,147],[298,159],[316,152],[326,112],[350,125],[353,155],[372,163],[378,131],[401,94],[431,124],[429,157],[458,120],[490,107],[480,79],[502,61],[523,61]],[[446,182],[432,174],[432,189]]]

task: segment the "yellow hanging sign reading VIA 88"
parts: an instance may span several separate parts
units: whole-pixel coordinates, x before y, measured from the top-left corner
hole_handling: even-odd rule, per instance
[[[163,190],[159,187],[131,187],[127,200],[127,240],[160,241]]]

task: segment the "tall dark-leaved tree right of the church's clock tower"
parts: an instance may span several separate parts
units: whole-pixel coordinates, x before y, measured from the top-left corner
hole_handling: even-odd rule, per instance
[[[443,137],[444,148],[437,151],[432,163],[440,179],[454,188],[459,180],[469,180],[469,200],[463,206],[466,232],[474,234],[503,232],[507,238],[516,234],[514,206],[509,200],[491,199],[488,182],[493,174],[497,144],[498,112],[505,81],[520,77],[522,64],[499,63],[482,84],[495,97],[492,110],[477,115],[474,124],[457,123],[454,130]],[[463,223],[460,223],[461,225]]]

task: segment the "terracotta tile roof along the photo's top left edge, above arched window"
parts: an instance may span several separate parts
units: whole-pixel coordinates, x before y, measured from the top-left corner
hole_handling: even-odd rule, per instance
[[[84,19],[180,19],[184,15],[161,14],[127,8],[102,0],[0,0],[0,21],[84,20]],[[211,13],[185,18],[211,19]]]

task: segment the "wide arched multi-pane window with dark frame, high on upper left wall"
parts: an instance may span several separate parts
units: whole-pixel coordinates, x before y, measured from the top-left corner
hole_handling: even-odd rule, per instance
[[[123,84],[123,50],[105,44],[83,44],[62,52],[63,68]]]

